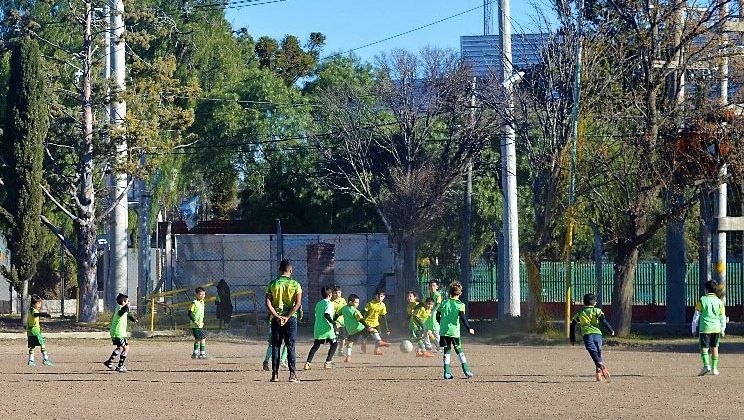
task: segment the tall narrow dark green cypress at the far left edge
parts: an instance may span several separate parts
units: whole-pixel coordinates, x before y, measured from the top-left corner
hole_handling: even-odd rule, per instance
[[[47,77],[41,50],[27,35],[17,38],[10,58],[5,130],[0,144],[2,180],[5,184],[9,278],[28,298],[28,282],[41,258],[42,163],[44,139],[49,130]],[[21,312],[25,314],[25,311]]]

